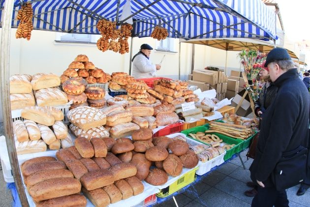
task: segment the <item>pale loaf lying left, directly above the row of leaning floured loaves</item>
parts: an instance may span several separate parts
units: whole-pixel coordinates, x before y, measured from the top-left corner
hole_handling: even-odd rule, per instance
[[[55,123],[54,116],[48,110],[38,106],[24,108],[21,116],[24,119],[29,119],[46,126],[52,126]]]

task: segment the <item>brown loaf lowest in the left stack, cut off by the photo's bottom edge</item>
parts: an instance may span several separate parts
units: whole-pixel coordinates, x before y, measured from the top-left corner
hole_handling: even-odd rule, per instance
[[[80,194],[72,194],[58,198],[48,199],[36,204],[36,207],[86,207],[87,200]]]

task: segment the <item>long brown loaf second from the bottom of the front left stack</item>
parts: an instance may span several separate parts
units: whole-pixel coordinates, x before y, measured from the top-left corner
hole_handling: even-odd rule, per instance
[[[39,182],[29,188],[29,194],[34,201],[67,196],[81,191],[81,183],[71,177],[52,178]]]

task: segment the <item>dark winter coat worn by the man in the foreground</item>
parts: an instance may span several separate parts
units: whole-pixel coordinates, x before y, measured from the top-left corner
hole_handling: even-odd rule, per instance
[[[309,141],[310,94],[297,69],[283,73],[274,84],[278,93],[265,112],[250,167],[252,181],[262,181],[265,187],[273,186],[271,173],[282,153],[307,147]]]

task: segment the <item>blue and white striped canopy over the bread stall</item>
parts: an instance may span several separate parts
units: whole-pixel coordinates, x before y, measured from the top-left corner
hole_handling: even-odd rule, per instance
[[[126,0],[29,0],[33,28],[79,34],[99,34],[99,19],[120,22]],[[261,0],[127,0],[134,36],[150,36],[160,24],[169,37],[276,39],[276,14]],[[26,0],[25,0],[26,2]],[[0,0],[0,16],[4,0]],[[15,1],[12,27],[17,27],[20,0]],[[122,22],[121,22],[122,23]]]

